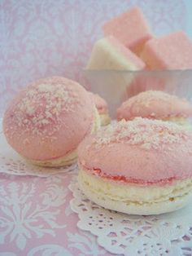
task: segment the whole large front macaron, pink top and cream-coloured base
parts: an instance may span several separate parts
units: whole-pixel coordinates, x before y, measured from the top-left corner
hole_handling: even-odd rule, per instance
[[[192,134],[171,122],[137,117],[106,126],[83,140],[78,161],[80,188],[110,210],[162,214],[192,197]]]

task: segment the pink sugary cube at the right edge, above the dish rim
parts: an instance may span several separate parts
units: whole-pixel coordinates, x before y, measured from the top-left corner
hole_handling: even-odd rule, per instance
[[[192,42],[183,32],[170,33],[146,42],[141,57],[151,69],[190,69]]]

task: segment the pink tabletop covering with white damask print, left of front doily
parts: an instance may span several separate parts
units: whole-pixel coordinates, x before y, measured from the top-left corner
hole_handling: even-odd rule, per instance
[[[110,255],[76,227],[71,179],[72,173],[46,179],[0,175],[0,255]]]

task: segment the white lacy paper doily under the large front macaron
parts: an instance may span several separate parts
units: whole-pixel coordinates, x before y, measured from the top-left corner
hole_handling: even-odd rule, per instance
[[[106,210],[89,201],[76,177],[69,186],[77,226],[98,236],[98,245],[113,254],[192,255],[192,205],[172,214],[138,216]]]

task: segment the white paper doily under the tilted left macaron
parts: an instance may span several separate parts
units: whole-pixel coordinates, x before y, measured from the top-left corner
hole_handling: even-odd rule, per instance
[[[7,143],[2,133],[2,121],[0,119],[0,174],[33,175],[47,177],[52,174],[68,172],[76,169],[76,164],[60,168],[45,168],[33,166],[17,154]]]

